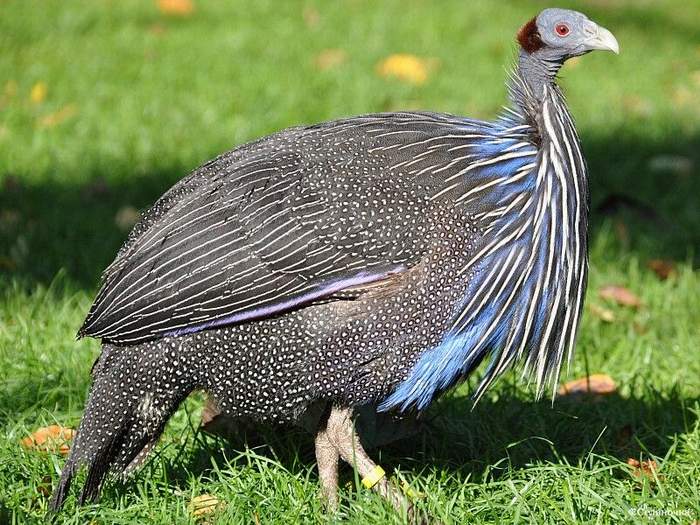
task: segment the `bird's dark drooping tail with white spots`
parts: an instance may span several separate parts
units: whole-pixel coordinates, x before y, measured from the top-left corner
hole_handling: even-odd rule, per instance
[[[105,345],[93,368],[85,412],[51,498],[52,511],[63,505],[81,466],[87,467],[87,477],[79,504],[97,499],[107,474],[125,476],[146,459],[170,416],[195,388],[187,371],[180,371],[177,381],[165,373],[167,355]]]

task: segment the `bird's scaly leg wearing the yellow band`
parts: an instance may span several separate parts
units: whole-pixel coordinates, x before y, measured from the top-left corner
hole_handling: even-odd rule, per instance
[[[363,485],[376,490],[388,499],[397,510],[405,509],[409,515],[411,514],[411,505],[403,493],[386,479],[382,468],[372,461],[362,448],[357,432],[355,432],[351,409],[338,407],[331,409],[326,424],[326,435],[330,442],[335,445],[340,457],[352,465],[362,476]]]

